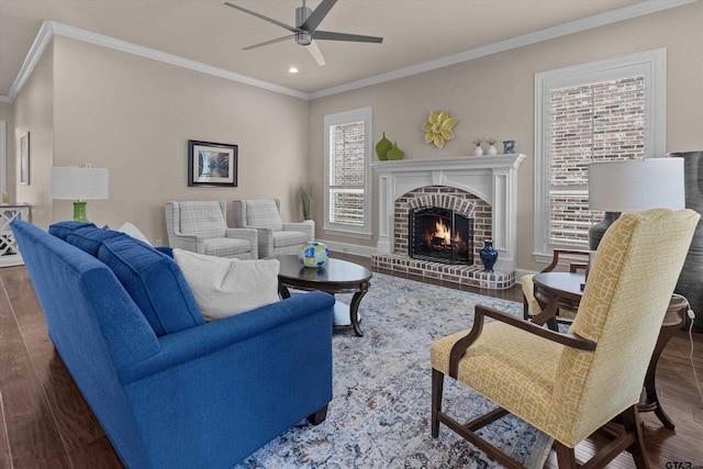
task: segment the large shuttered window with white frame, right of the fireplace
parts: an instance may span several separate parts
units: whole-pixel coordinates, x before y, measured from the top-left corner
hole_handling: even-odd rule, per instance
[[[537,74],[535,256],[588,248],[588,164],[665,155],[663,49]]]

